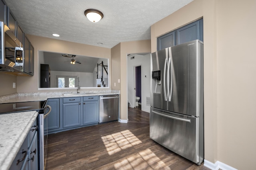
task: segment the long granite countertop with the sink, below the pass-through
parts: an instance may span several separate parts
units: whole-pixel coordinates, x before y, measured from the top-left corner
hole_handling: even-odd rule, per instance
[[[17,93],[8,96],[0,97],[1,103],[14,103],[14,102],[31,102],[47,100],[49,98],[68,98],[68,97],[80,97],[80,96],[102,96],[120,94],[119,90],[107,90],[107,91],[90,91],[90,92],[32,92],[32,93]]]

